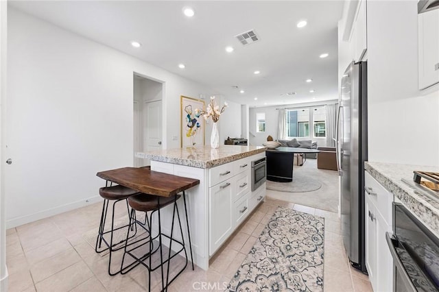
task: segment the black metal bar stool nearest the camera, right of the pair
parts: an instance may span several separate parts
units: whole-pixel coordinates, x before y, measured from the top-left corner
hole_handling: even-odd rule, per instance
[[[141,264],[144,267],[147,268],[148,271],[148,276],[151,279],[151,272],[155,271],[156,269],[158,269],[159,267],[161,268],[161,278],[162,278],[162,289],[163,291],[167,290],[167,287],[169,286],[169,284],[171,284],[172,281],[174,281],[179,275],[180,273],[182,273],[182,271],[185,270],[185,268],[187,267],[187,263],[188,263],[188,258],[187,258],[187,252],[186,252],[186,247],[185,247],[185,236],[183,235],[183,230],[182,230],[182,225],[181,225],[181,220],[180,220],[180,212],[178,211],[178,205],[177,205],[177,200],[180,198],[180,195],[171,195],[170,197],[161,197],[158,195],[150,195],[150,194],[145,194],[145,193],[141,193],[138,195],[133,195],[131,197],[128,198],[128,204],[130,205],[131,209],[131,216],[130,216],[130,225],[131,224],[135,224],[135,225],[139,225],[141,228],[143,228],[146,233],[147,236],[143,239],[139,239],[137,241],[134,242],[130,242],[128,243],[128,236],[129,236],[129,230],[127,232],[127,241],[126,241],[126,246],[125,246],[125,250],[123,253],[123,258],[122,258],[122,263],[121,263],[121,273],[127,273],[128,271],[130,271],[131,269],[134,269],[134,267],[136,267],[137,265]],[[183,198],[185,199],[185,192],[183,191]],[[163,234],[162,230],[161,230],[161,208],[174,203],[174,211],[172,213],[172,221],[171,221],[171,234],[170,236],[168,236],[167,234]],[[137,221],[137,219],[135,218],[135,211],[142,211],[142,212],[150,212],[150,218],[147,221],[147,226],[145,226],[145,224]],[[186,200],[185,200],[185,213],[186,213],[186,223],[187,223],[187,227],[188,227],[188,236],[189,236],[189,247],[191,250],[191,261],[192,261],[192,269],[194,269],[193,267],[193,256],[192,256],[192,247],[191,247],[191,235],[189,232],[189,221],[187,218],[187,208],[186,208]],[[154,213],[157,212],[158,214],[158,234],[154,237],[152,237],[152,216],[154,215]],[[177,219],[178,219],[178,226],[180,227],[180,232],[182,234],[182,241],[178,241],[177,239],[173,238],[173,234],[174,234],[174,222],[175,222],[175,215],[177,214]],[[147,217],[147,215],[145,215],[145,217]],[[162,236],[167,237],[167,239],[169,239],[169,254],[167,256],[167,260],[163,260],[163,249],[162,249]],[[154,244],[154,240],[158,238],[158,246],[156,244]],[[141,241],[145,241],[142,244],[139,244]],[[180,245],[180,249],[178,250],[178,252],[175,252],[174,254],[171,255],[172,252],[172,243],[177,243],[178,245]],[[134,247],[132,247],[134,245]],[[141,256],[138,256],[137,254],[134,254],[134,252],[136,252],[136,250],[139,250],[139,248],[144,248],[145,245],[149,245],[149,248],[147,249],[147,251],[145,252],[145,250],[143,250],[141,252]],[[156,246],[154,246],[156,245]],[[160,263],[158,263],[157,265],[155,265],[155,267],[152,267],[153,263],[152,263],[152,254],[156,253],[160,251]],[[183,267],[180,271],[178,271],[178,273],[176,274],[176,276],[174,276],[172,279],[169,279],[169,265],[171,264],[171,259],[174,258],[176,255],[180,254],[180,252],[184,252],[185,253],[185,258],[186,258],[186,263],[185,263],[185,267]],[[129,265],[127,265],[126,267],[123,267],[123,263],[125,260],[125,256],[129,255],[132,258],[134,258],[134,263],[131,263]],[[149,259],[149,263],[145,263],[145,260]],[[163,274],[163,265],[165,265],[165,263],[167,263],[167,271],[166,271],[166,278],[164,278],[164,274]],[[165,280],[166,280],[166,284],[165,284]],[[148,291],[151,291],[151,280],[148,283]]]

